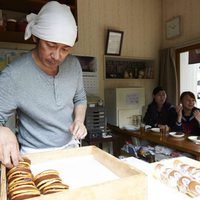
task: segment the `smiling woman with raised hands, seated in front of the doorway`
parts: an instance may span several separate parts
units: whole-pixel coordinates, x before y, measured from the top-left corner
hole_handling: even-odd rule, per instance
[[[200,135],[200,110],[195,107],[196,98],[190,91],[180,96],[180,105],[176,107],[177,122],[175,131],[188,135]]]

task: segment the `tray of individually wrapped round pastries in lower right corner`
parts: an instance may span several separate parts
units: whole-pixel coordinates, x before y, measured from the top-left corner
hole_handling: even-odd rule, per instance
[[[153,176],[191,198],[200,199],[200,163],[187,157],[161,160],[153,164]]]

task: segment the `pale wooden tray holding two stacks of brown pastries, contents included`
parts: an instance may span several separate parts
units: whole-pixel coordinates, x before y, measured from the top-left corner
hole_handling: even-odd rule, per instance
[[[1,200],[27,198],[144,200],[147,176],[95,146],[26,154],[17,167],[1,165]]]

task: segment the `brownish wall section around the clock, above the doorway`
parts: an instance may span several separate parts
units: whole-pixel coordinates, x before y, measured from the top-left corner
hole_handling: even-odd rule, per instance
[[[163,40],[162,47],[185,46],[200,40],[200,1],[199,0],[162,0]],[[181,36],[167,40],[165,23],[167,20],[181,16]]]

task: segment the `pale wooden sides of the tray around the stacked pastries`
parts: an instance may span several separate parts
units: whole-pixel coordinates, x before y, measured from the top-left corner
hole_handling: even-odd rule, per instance
[[[26,156],[31,160],[32,163],[31,169],[32,171],[35,170],[35,172],[38,170],[38,169],[36,170],[36,167],[38,166],[43,167],[43,169],[41,170],[49,169],[48,167],[50,165],[48,166],[48,162],[51,162],[52,164],[60,161],[65,162],[65,160],[69,161],[70,159],[81,160],[82,158],[91,156],[94,159],[94,162],[98,162],[99,165],[102,165],[107,171],[109,171],[111,174],[114,174],[114,176],[117,177],[111,180],[102,181],[101,183],[96,183],[96,184],[93,183],[92,185],[86,185],[86,186],[83,185],[79,188],[71,188],[65,192],[54,193],[49,195],[41,195],[39,197],[31,199],[34,200],[147,199],[147,176],[140,170],[135,169],[132,166],[129,166],[128,164],[120,161],[119,159],[102,151],[101,149],[95,146],[87,146],[69,150],[57,150],[51,152],[33,153],[33,154],[27,154]],[[61,166],[66,167],[64,163]],[[59,167],[61,166],[59,165]],[[82,174],[86,173],[83,170],[85,169],[84,166],[87,166],[87,163],[84,163],[84,161],[82,163],[79,163],[76,166],[76,169],[74,169],[74,172],[72,172],[74,173],[74,176],[79,170],[81,171]],[[66,169],[66,171],[67,170],[69,171],[71,169]],[[93,179],[93,177],[90,177],[90,173],[88,173],[86,177],[88,177],[88,179]],[[7,200],[6,169],[3,165],[1,165],[1,199]]]

